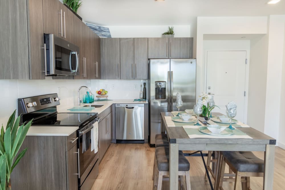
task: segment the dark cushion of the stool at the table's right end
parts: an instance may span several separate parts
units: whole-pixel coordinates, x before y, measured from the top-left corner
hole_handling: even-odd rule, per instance
[[[237,171],[240,172],[263,172],[264,162],[249,151],[225,151],[223,156]]]

